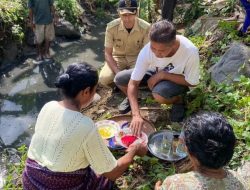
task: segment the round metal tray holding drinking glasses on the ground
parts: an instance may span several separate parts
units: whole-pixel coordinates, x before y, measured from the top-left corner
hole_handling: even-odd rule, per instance
[[[179,143],[179,135],[180,133],[170,130],[154,132],[148,137],[148,150],[161,160],[179,161],[187,157],[184,145]]]

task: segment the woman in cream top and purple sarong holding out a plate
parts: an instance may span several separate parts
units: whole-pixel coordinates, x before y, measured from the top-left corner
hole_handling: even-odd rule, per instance
[[[146,154],[146,145],[132,144],[116,160],[94,122],[80,113],[97,83],[97,71],[86,63],[71,64],[59,76],[55,85],[64,98],[46,103],[38,115],[22,175],[25,190],[112,189],[134,156]]]

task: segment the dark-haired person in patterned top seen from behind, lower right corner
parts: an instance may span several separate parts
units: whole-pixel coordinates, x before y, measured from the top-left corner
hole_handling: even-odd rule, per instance
[[[158,181],[155,190],[250,189],[249,175],[247,179],[225,168],[233,156],[236,138],[232,126],[221,114],[200,112],[189,117],[184,123],[184,134],[194,170],[169,176],[163,183]]]

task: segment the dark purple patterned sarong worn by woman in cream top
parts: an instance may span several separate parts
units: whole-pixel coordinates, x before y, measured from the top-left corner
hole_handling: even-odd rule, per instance
[[[109,190],[113,182],[87,167],[74,172],[53,172],[27,159],[22,176],[24,190]]]

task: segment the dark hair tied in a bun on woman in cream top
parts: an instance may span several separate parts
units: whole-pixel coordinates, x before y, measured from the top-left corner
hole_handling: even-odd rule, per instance
[[[57,78],[55,86],[62,90],[67,98],[75,98],[76,95],[87,87],[92,90],[98,82],[98,73],[87,63],[73,63],[68,66],[66,72]]]

